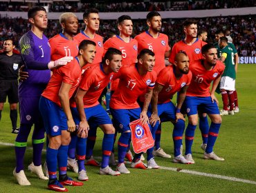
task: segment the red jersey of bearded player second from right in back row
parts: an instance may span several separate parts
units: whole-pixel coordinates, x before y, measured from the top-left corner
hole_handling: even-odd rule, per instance
[[[138,41],[138,52],[147,48],[155,53],[156,64],[154,66],[154,70],[158,74],[163,68],[165,68],[165,52],[170,50],[167,35],[159,33],[159,36],[154,38],[147,31],[138,34],[135,39]]]

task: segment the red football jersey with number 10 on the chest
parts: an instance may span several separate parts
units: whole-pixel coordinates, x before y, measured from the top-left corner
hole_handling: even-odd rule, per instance
[[[225,69],[225,65],[221,61],[212,70],[206,70],[203,61],[194,61],[190,63],[190,71],[192,72],[192,80],[187,90],[187,96],[210,96],[210,85],[212,81],[217,79]]]

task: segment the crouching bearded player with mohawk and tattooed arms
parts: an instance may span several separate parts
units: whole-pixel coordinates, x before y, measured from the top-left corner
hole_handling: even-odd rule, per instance
[[[192,74],[189,71],[189,62],[188,55],[181,51],[176,54],[173,65],[167,66],[159,72],[152,96],[152,113],[150,110],[148,112],[149,121],[152,123],[153,138],[159,125],[158,120],[161,120],[161,122],[171,121],[174,124],[172,132],[174,163],[190,163],[181,152],[182,136],[185,130],[185,119],[181,114],[181,106],[192,78]],[[170,101],[176,92],[179,92],[177,107]],[[148,165],[152,165],[153,168],[159,167],[154,165],[152,152],[153,148],[147,150]]]

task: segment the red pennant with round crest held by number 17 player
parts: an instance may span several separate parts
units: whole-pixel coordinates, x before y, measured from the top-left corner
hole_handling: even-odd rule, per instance
[[[154,147],[154,139],[149,129],[149,125],[140,123],[140,119],[129,124],[131,128],[131,142],[136,154],[147,152]]]

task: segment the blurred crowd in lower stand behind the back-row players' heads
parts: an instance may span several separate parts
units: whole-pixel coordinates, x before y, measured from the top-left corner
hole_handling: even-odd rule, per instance
[[[169,37],[170,45],[183,39],[182,32],[183,19],[164,19],[162,32]],[[102,20],[98,34],[105,37],[105,40],[111,34],[117,34],[117,23],[114,20]],[[240,56],[255,56],[256,50],[256,15],[231,16],[231,17],[208,17],[198,20],[199,30],[208,32],[208,43],[214,43],[215,32],[230,30],[233,43],[237,47]],[[80,30],[84,29],[84,23],[80,20]],[[0,48],[6,37],[12,37],[15,44],[18,44],[19,38],[30,30],[30,24],[26,19],[21,18],[1,18],[0,19]],[[147,30],[145,20],[134,20],[134,36]],[[61,32],[58,20],[48,21],[46,37],[51,38]]]

